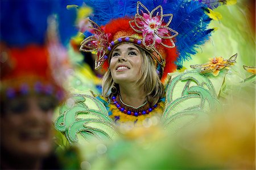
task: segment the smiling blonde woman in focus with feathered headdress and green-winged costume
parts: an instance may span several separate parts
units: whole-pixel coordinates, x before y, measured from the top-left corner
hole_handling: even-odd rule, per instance
[[[111,2],[110,9],[105,8]],[[202,8],[206,7],[204,2],[154,1],[153,5],[151,1],[139,1],[134,10],[136,2],[118,1],[117,6],[122,6],[123,11],[117,13],[112,13],[117,9],[115,1],[111,2],[86,1],[93,7],[92,19],[97,23],[85,19],[84,23],[90,23],[86,29],[90,36],[80,47],[80,51],[96,53],[95,69],[106,71],[102,96],[80,93],[68,99],[60,109],[56,129],[64,132],[70,143],[92,136],[112,139],[115,127],[148,127],[159,122],[167,126],[192,112],[213,109],[217,105],[216,89],[198,71],[184,73],[170,82],[167,76],[213,31],[207,29],[210,19]],[[168,6],[167,10],[161,5]],[[130,6],[133,10],[127,9]],[[197,13],[184,7],[193,7]],[[189,29],[184,30],[185,26]],[[177,36],[178,32],[181,36]],[[189,88],[193,82],[200,88]],[[201,102],[204,98],[208,98],[207,102]]]

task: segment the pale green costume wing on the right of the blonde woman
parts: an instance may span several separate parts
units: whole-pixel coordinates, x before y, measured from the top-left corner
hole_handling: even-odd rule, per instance
[[[220,107],[217,94],[224,77],[225,73],[221,73],[211,77],[211,81],[197,70],[172,77],[166,88],[166,107],[161,119],[164,127],[176,130]]]

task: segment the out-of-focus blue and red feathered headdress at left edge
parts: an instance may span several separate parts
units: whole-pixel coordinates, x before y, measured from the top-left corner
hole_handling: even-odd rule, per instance
[[[68,67],[63,49],[76,33],[76,11],[67,5],[60,0],[1,1],[1,99],[28,93],[63,99],[57,73]]]

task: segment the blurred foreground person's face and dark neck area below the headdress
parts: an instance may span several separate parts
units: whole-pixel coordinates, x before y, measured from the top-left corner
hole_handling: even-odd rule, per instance
[[[59,169],[53,155],[56,99],[16,96],[1,103],[1,169]]]

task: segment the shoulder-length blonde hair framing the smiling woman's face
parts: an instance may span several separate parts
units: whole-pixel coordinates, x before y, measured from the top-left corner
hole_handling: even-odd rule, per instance
[[[137,46],[138,47],[138,46]],[[138,47],[142,55],[142,67],[139,80],[137,81],[138,87],[143,88],[146,93],[146,99],[150,105],[155,105],[160,98],[164,97],[164,86],[160,81],[158,73],[154,66],[149,53]],[[111,59],[110,59],[111,60]],[[102,78],[102,96],[109,98],[110,89],[114,86],[114,81],[110,72],[110,68]]]

